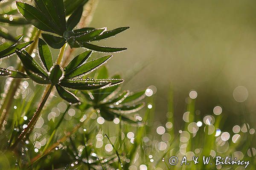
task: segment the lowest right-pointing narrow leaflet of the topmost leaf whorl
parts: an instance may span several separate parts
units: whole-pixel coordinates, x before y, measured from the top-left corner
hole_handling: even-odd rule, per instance
[[[81,44],[81,47],[93,50],[93,51],[99,51],[104,53],[111,53],[111,52],[118,52],[118,51],[124,51],[127,50],[127,48],[114,48],[114,47],[102,47],[98,45],[93,45],[89,43],[83,43]]]

